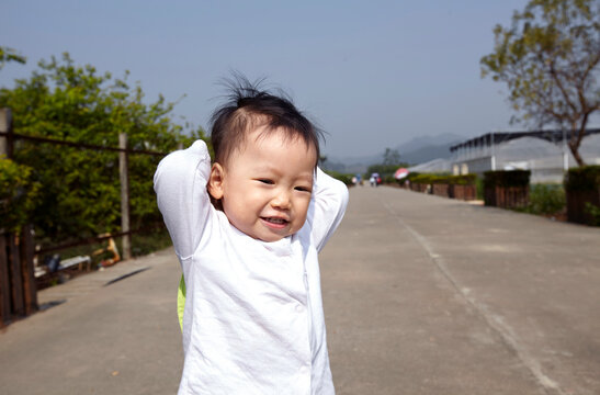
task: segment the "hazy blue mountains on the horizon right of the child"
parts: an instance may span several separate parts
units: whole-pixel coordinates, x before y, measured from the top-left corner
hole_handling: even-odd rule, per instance
[[[435,136],[419,136],[415,137],[406,143],[403,143],[394,149],[397,149],[400,154],[400,160],[409,162],[410,165],[422,163],[432,159],[451,157],[450,147],[464,142],[464,136],[444,133]],[[328,158],[324,163],[324,168],[327,170],[336,170],[341,172],[365,172],[366,168],[371,165],[381,163],[383,159],[383,153],[378,155],[371,155],[364,157],[342,157],[342,158]]]

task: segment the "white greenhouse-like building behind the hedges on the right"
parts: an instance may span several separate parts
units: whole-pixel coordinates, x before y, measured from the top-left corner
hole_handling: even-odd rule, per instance
[[[562,182],[577,166],[564,131],[488,133],[452,146],[452,173],[482,174],[488,170],[531,170],[531,182]],[[600,128],[588,129],[579,154],[588,165],[600,165]]]

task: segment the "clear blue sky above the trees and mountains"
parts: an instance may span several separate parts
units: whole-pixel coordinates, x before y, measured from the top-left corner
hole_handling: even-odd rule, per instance
[[[331,158],[375,155],[421,135],[509,129],[506,88],[482,79],[493,29],[525,0],[2,0],[0,86],[39,59],[140,81],[148,100],[186,97],[174,113],[207,127],[229,70],[267,77],[327,131]],[[400,153],[401,154],[401,153]]]

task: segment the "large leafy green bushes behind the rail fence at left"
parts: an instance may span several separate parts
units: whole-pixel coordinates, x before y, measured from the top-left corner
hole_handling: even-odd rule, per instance
[[[127,74],[113,79],[91,65],[77,66],[68,54],[61,60],[39,61],[29,79],[0,90],[0,108],[12,109],[14,133],[105,147],[168,153],[203,137],[202,129],[183,133],[170,117],[173,103],[162,97],[146,104],[139,84]],[[16,140],[14,160],[33,168],[42,185],[33,213],[36,233],[55,241],[118,230],[121,200],[118,155],[50,144]],[[160,157],[129,155],[131,227],[160,221],[152,174]]]

